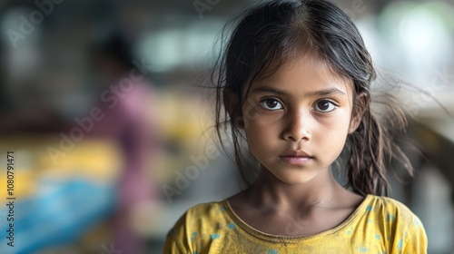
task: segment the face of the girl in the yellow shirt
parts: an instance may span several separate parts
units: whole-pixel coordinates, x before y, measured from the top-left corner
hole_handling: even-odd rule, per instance
[[[255,83],[242,106],[249,148],[283,182],[311,181],[341,154],[351,121],[352,82],[310,55]]]

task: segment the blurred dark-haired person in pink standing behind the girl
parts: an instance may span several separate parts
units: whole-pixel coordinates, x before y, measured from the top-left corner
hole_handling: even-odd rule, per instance
[[[94,45],[92,64],[100,94],[98,107],[104,113],[90,132],[95,137],[118,141],[124,164],[117,190],[118,208],[114,215],[114,247],[126,253],[143,253],[144,240],[133,229],[134,220],[153,209],[158,191],[148,167],[156,137],[153,121],[153,92],[146,71],[136,66],[131,46],[119,34]],[[157,202],[155,203],[157,204]],[[153,212],[152,212],[153,213]]]

